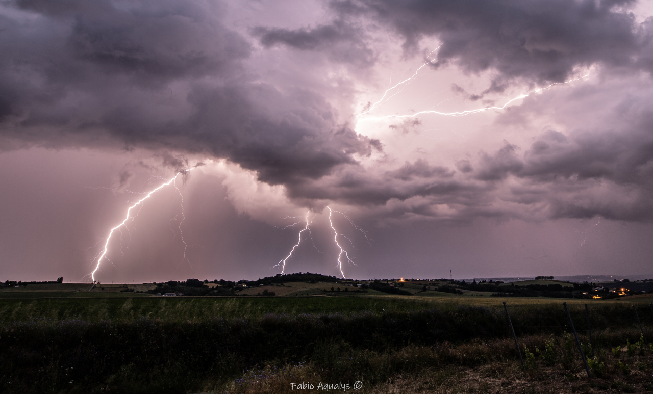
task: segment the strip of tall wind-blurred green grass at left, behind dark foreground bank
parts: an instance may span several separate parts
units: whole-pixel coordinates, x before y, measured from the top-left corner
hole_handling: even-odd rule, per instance
[[[0,299],[0,324],[82,319],[133,322],[138,318],[168,321],[208,321],[264,314],[418,311],[426,301],[374,297],[148,297],[89,299]]]

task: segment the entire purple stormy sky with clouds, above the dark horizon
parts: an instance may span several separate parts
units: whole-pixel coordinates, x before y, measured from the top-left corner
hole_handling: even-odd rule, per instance
[[[652,11],[0,1],[0,280],[653,275]]]

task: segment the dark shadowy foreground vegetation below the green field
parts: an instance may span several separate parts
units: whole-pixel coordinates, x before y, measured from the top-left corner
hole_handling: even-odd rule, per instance
[[[518,362],[501,305],[426,309],[426,303],[415,301],[323,299],[107,299],[102,301],[116,303],[116,308],[105,305],[101,318],[93,309],[101,301],[97,299],[3,300],[0,392],[292,392],[292,382],[309,378],[315,384],[353,385],[358,380],[364,382],[363,392],[393,380],[419,380],[425,383],[416,392],[432,392],[455,383],[447,380],[452,366],[460,370],[503,363],[495,369],[509,369]],[[50,303],[44,308],[58,312],[44,309],[35,316],[50,318],[21,314],[37,310],[30,302],[45,301]],[[333,304],[338,302],[342,305]],[[69,308],[66,303],[76,304]],[[136,308],[135,303],[142,304]],[[346,312],[329,312],[333,307]],[[136,314],[121,312],[135,308]],[[185,309],[193,312],[180,316]],[[637,311],[645,333],[653,337],[653,313],[648,305]],[[587,343],[581,328],[586,324],[584,309],[572,306],[571,312]],[[626,382],[632,371],[650,376],[653,367],[651,350],[638,342],[633,313],[630,305],[617,303],[590,309],[597,374],[621,379],[626,386],[619,387],[626,392],[628,385],[635,387]],[[532,359],[527,354],[528,371],[557,368],[569,379],[581,372],[577,350],[569,346],[573,342],[566,334],[570,328],[562,305],[511,307],[511,318],[521,346],[533,354]],[[626,341],[636,347],[613,354],[611,349],[626,346]],[[637,380],[637,387],[643,384]]]

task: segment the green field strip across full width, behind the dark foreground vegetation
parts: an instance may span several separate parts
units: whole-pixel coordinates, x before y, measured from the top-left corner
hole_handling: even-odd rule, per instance
[[[544,297],[487,297],[466,292],[456,295],[444,292],[419,292],[414,295],[392,295],[368,290],[366,293],[336,292],[324,295],[323,284],[294,284],[288,286],[292,297],[156,297],[139,293],[120,292],[0,292],[0,322],[22,322],[35,318],[67,320],[84,318],[89,321],[133,321],[137,318],[200,321],[215,316],[263,316],[264,314],[341,313],[371,311],[418,311],[423,309],[451,309],[455,307],[489,307],[502,309],[505,301],[510,307],[584,305],[647,305],[653,295],[633,295],[619,299],[560,299]],[[262,288],[279,288],[263,286]],[[258,289],[249,289],[258,290]],[[313,292],[310,292],[313,290]],[[258,290],[259,292],[261,290]],[[253,294],[256,294],[253,292]],[[313,295],[310,295],[313,294]]]

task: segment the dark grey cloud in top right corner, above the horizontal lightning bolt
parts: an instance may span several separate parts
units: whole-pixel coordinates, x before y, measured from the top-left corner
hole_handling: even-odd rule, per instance
[[[498,70],[503,78],[560,82],[577,66],[626,65],[639,57],[643,31],[634,1],[569,0],[345,0],[338,14],[370,16],[404,37],[413,52],[424,37],[442,46],[434,67],[454,62],[470,72]],[[650,41],[650,39],[649,39]],[[642,59],[641,61],[644,61]],[[498,80],[490,91],[502,91]]]

